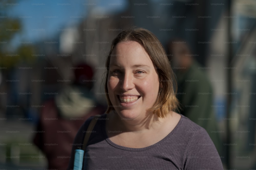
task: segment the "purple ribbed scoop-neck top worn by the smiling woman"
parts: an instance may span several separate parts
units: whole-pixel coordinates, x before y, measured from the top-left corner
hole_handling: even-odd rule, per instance
[[[181,116],[176,127],[161,141],[145,148],[127,148],[116,145],[107,137],[106,115],[103,114],[91,133],[84,154],[84,169],[223,169],[206,130]],[[74,144],[82,144],[91,119],[81,126]],[[74,149],[77,146],[73,146],[68,169],[73,169]]]

